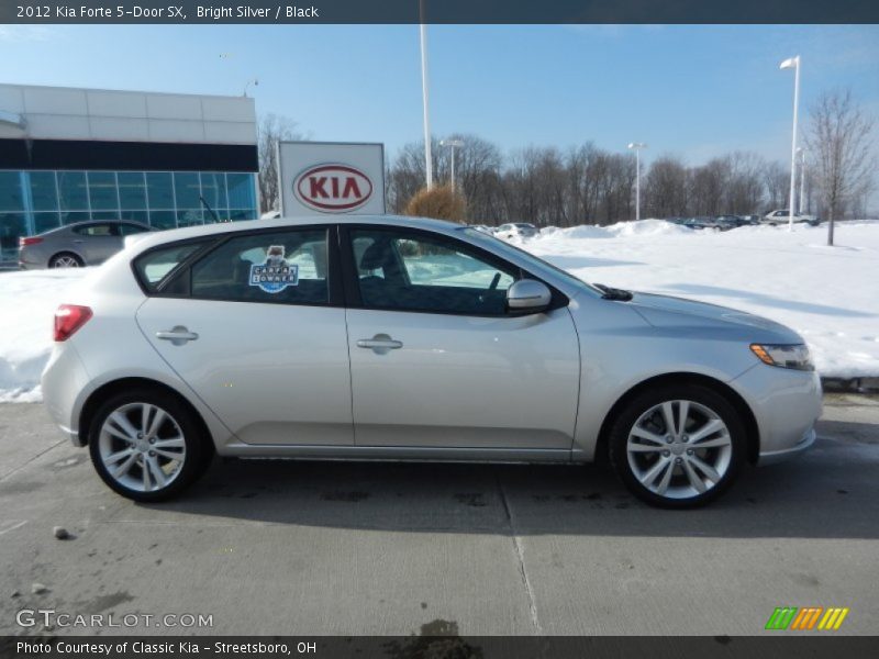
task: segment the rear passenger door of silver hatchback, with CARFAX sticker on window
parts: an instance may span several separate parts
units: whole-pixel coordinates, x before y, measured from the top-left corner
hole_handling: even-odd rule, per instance
[[[244,443],[354,442],[336,248],[326,225],[231,234],[137,312],[156,351]],[[142,278],[162,271],[148,257]]]

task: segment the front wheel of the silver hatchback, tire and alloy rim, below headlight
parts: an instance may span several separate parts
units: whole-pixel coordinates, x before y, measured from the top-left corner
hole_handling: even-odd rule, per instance
[[[611,429],[610,457],[628,489],[660,507],[703,505],[738,476],[745,426],[720,393],[667,386],[634,398]]]

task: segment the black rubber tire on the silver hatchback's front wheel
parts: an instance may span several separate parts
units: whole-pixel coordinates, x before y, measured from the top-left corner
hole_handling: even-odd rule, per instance
[[[682,444],[682,442],[688,442],[688,437],[686,435],[686,431],[681,434],[682,439],[679,442],[677,438],[674,439],[674,444],[669,444],[669,450],[661,450],[655,451],[652,454],[632,454],[632,459],[636,462],[638,460],[656,460],[658,461],[660,458],[670,460],[669,463],[670,468],[672,469],[671,479],[674,483],[677,483],[676,490],[678,493],[682,490],[693,490],[691,494],[679,494],[672,495],[671,494],[671,485],[669,487],[669,495],[661,495],[657,492],[652,491],[648,489],[642,481],[638,479],[637,474],[633,470],[634,467],[630,462],[630,453],[628,453],[628,438],[630,433],[635,429],[635,424],[638,421],[644,422],[642,418],[643,415],[650,412],[657,405],[661,405],[665,402],[672,402],[672,406],[676,404],[677,401],[690,401],[691,403],[697,403],[696,406],[692,406],[693,415],[699,416],[702,413],[703,409],[706,409],[710,412],[713,412],[720,421],[723,422],[726,426],[726,431],[728,433],[728,447],[730,450],[726,453],[726,447],[723,448],[708,448],[708,449],[698,449],[699,444]],[[680,407],[672,407],[677,412],[680,411]],[[657,412],[658,414],[658,412]],[[656,422],[654,417],[647,417],[647,422]],[[698,423],[699,418],[694,418],[693,423]],[[643,425],[639,427],[644,427]],[[660,426],[664,427],[664,426]],[[657,432],[658,435],[663,435],[664,438],[667,438],[668,435],[665,435],[661,429]],[[713,434],[708,435],[706,437],[712,437]],[[623,483],[625,483],[626,488],[638,499],[648,503],[650,505],[664,509],[692,509],[699,507],[701,505],[705,505],[706,503],[714,501],[721,494],[723,494],[730,485],[733,484],[735,479],[738,477],[738,473],[742,469],[742,465],[745,461],[746,457],[746,449],[747,449],[747,438],[746,438],[746,431],[745,425],[739,416],[739,413],[736,411],[735,406],[730,403],[730,401],[723,396],[722,394],[717,393],[715,390],[701,386],[701,384],[671,384],[671,386],[661,386],[656,389],[650,389],[639,393],[634,399],[632,399],[622,412],[616,416],[611,426],[610,433],[610,444],[609,444],[609,456],[611,463],[613,465],[616,473],[622,479]],[[667,439],[666,439],[667,440]],[[705,439],[708,442],[708,439]],[[645,443],[645,446],[652,447],[653,444],[650,442]],[[693,447],[696,449],[696,458],[703,459],[703,461],[708,462],[711,466],[711,457],[712,455],[714,458],[721,459],[722,462],[725,463],[725,470],[721,474],[721,478],[714,482],[711,487],[704,492],[696,493],[694,488],[689,485],[691,480],[687,479],[686,468],[689,467],[689,460],[692,458],[688,458],[687,455],[693,453]],[[665,447],[663,447],[665,448]],[[681,455],[676,451],[682,451],[685,455]],[[724,451],[723,457],[721,457],[720,451]],[[712,451],[715,451],[712,454]],[[700,455],[701,454],[701,455]],[[654,457],[655,456],[655,457]],[[667,457],[666,457],[667,456]],[[679,457],[676,457],[679,456]],[[688,465],[681,465],[682,460],[687,460]],[[675,463],[677,461],[677,463]],[[654,462],[655,463],[655,462]],[[637,465],[636,465],[637,466]],[[650,463],[647,462],[645,465],[645,469],[649,467]],[[715,465],[716,466],[716,465]],[[660,471],[658,473],[663,473]],[[720,471],[717,472],[720,473]],[[643,474],[644,476],[644,474]],[[655,481],[654,481],[655,482]]]

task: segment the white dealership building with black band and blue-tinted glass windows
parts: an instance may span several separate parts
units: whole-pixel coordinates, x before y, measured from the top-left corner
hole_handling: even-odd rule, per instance
[[[0,260],[73,222],[256,219],[257,171],[251,98],[0,85]]]

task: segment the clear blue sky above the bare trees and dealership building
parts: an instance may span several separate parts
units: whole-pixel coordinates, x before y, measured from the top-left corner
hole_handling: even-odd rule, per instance
[[[509,150],[592,139],[649,144],[690,164],[733,149],[786,160],[792,71],[802,107],[850,87],[879,115],[879,26],[432,25],[436,135]],[[227,54],[221,57],[221,54]],[[416,25],[0,26],[0,81],[242,93],[315,139],[418,141]]]

